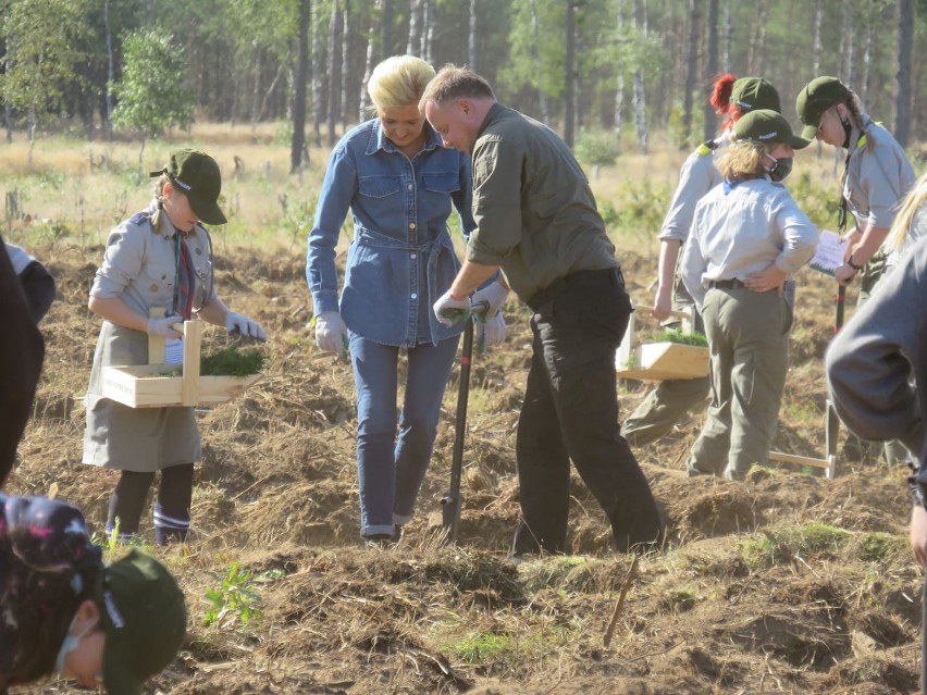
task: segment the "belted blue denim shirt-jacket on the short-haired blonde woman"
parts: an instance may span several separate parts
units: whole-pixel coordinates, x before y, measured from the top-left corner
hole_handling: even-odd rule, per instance
[[[314,313],[341,311],[347,327],[382,345],[436,345],[461,326],[437,322],[432,305],[460,268],[447,228],[452,202],[465,236],[475,227],[470,210],[470,158],[444,148],[430,125],[411,160],[379,119],[348,132],[329,161],[309,235],[306,276]],[[351,212],[344,289],[338,301],[335,246]]]

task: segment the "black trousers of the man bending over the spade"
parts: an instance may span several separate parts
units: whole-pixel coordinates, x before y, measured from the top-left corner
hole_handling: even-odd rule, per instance
[[[522,521],[512,551],[566,551],[571,459],[619,551],[659,543],[656,502],[618,425],[615,351],[631,312],[623,280],[617,270],[565,280],[556,297],[531,302],[533,356],[516,445]]]

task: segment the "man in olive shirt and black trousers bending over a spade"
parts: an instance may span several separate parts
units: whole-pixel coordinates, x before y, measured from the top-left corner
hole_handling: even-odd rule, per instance
[[[618,427],[615,350],[631,303],[582,169],[553,131],[497,103],[472,71],[445,66],[421,103],[445,147],[473,158],[477,229],[435,314],[445,323],[469,317],[470,293],[499,268],[497,282],[534,311],[512,553],[567,551],[570,459],[608,516],[618,550],[659,544],[656,502]],[[489,300],[492,314],[506,294],[491,286],[473,300]]]

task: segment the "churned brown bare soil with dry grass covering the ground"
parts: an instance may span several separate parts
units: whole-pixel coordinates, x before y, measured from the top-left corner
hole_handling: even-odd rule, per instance
[[[81,442],[99,330],[86,299],[102,249],[34,251],[60,296],[42,324],[45,375],[8,489],[55,491],[99,530],[115,474],[82,466]],[[623,260],[632,296],[645,302],[653,259]],[[916,692],[920,575],[906,549],[905,471],[875,450],[842,449],[835,480],[783,466],[726,483],[684,476],[701,413],[642,447],[668,542],[639,561],[609,646],[603,637],[631,558],[610,550],[578,477],[576,556],[515,566],[515,430],[530,356],[528,314],[515,302],[507,344],[473,367],[458,547],[441,544],[438,507],[456,373],[417,517],[398,546],[363,546],[354,383],[346,363],[314,346],[304,273],[301,258],[272,250],[220,260],[223,298],[271,336],[269,368],[243,397],[201,413],[195,530],[184,547],[153,549],[187,595],[188,635],[147,693]],[[776,446],[823,456],[833,287],[811,271],[800,282]],[[226,343],[219,330],[208,334]],[[623,386],[623,414],[645,390]],[[150,542],[147,520],[144,533]],[[207,592],[221,589],[234,564],[250,572],[244,603],[262,617],[244,623],[230,610],[206,625]]]

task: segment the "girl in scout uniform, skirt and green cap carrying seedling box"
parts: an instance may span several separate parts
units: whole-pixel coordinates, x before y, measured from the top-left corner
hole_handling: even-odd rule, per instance
[[[231,311],[213,285],[212,241],[207,224],[225,224],[218,200],[222,177],[202,152],[180,149],[152,172],[154,198],[109,234],[88,307],[103,319],[90,385],[84,463],[122,471],[110,499],[107,532],[116,523],[125,541],[138,532],[148,488],[160,471],[154,502],[158,545],[186,539],[190,526],[194,461],[201,458],[191,407],[129,408],[102,396],[110,364],[147,364],[148,336],[170,342],[183,335],[174,324],[194,313],[230,333],[264,340],[263,328]],[[163,318],[149,310],[163,308]],[[174,343],[176,345],[176,343]]]

